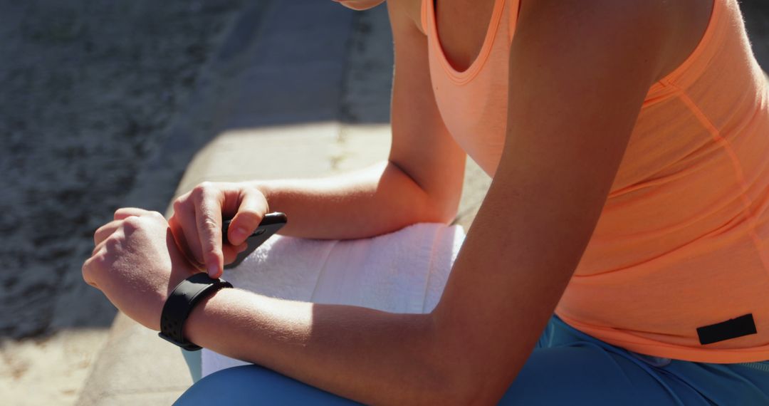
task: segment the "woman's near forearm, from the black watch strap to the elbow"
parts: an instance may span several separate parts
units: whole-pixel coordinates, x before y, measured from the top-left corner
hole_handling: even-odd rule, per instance
[[[391,314],[223,289],[196,306],[185,337],[367,404],[451,396],[430,314]]]

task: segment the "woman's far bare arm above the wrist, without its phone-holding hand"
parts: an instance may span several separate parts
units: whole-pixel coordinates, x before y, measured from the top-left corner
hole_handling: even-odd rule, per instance
[[[388,161],[326,180],[254,182],[271,210],[289,215],[281,234],[363,238],[457,215],[465,154],[438,112],[427,40],[405,3],[388,5],[395,37]]]

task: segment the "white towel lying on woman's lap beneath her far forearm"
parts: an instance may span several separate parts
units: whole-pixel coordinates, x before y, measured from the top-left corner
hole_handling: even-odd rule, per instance
[[[260,295],[393,313],[432,311],[464,241],[461,226],[411,225],[357,240],[275,235],[223,278]],[[203,349],[202,376],[247,364]]]

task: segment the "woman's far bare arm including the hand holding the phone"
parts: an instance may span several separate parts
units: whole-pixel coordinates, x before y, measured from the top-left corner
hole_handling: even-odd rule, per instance
[[[392,4],[400,8],[408,2]],[[187,257],[205,265],[209,275],[221,275],[225,258],[236,255],[235,248],[221,245],[223,215],[234,216],[228,238],[235,245],[267,210],[288,215],[282,235],[325,239],[368,238],[418,222],[449,223],[457,215],[464,151],[438,112],[424,35],[413,16],[395,15],[388,159],[328,178],[203,183],[182,195],[169,219],[171,229]]]

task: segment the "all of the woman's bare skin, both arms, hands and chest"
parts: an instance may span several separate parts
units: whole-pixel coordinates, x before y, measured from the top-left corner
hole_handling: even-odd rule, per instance
[[[712,2],[521,4],[501,161],[434,311],[391,314],[224,289],[198,304],[185,336],[365,404],[496,403],[578,265],[648,88],[694,49]],[[200,185],[175,203],[169,223],[121,209],[96,232],[85,281],[158,330],[169,288],[201,269],[221,275],[240,248],[222,250],[222,215],[236,215],[236,246],[271,210],[291,218],[281,234],[308,238],[451,221],[464,151],[434,100],[418,0],[387,6],[396,65],[388,160],[325,181]],[[452,63],[478,55],[492,6],[438,0],[438,35]]]

